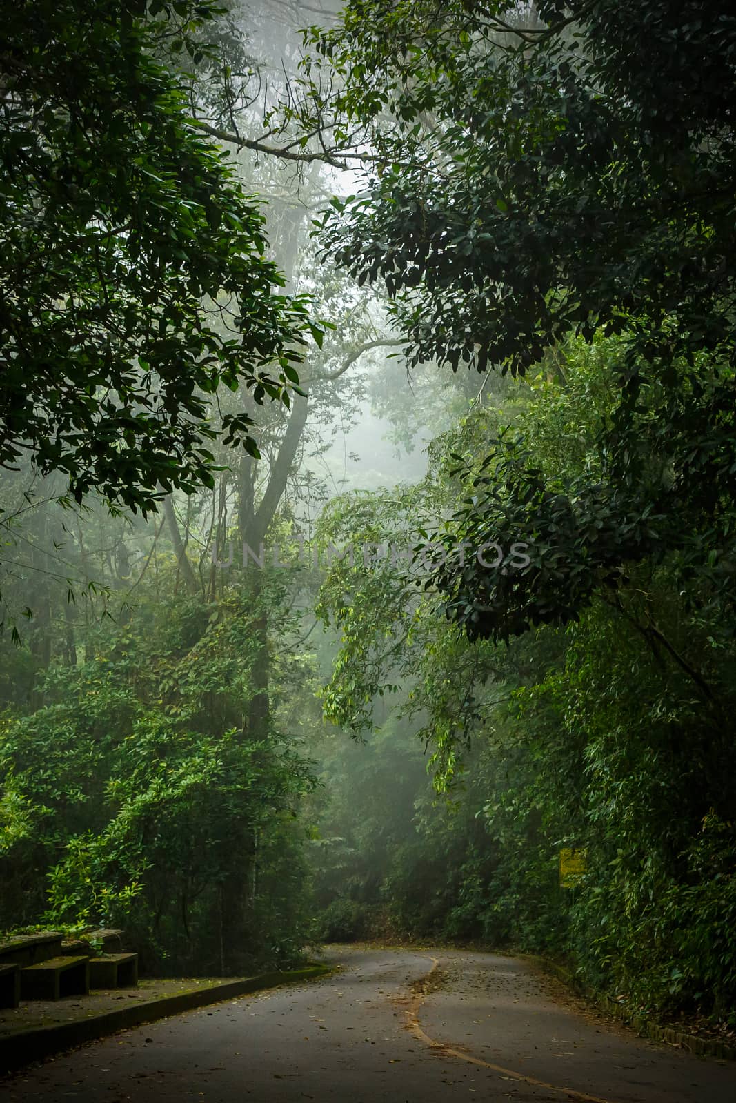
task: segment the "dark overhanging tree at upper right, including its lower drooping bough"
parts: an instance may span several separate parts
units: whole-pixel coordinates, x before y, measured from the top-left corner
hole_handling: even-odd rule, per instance
[[[308,36],[305,131],[361,120],[373,150],[320,234],[385,282],[409,363],[554,374],[569,334],[620,338],[595,470],[551,480],[513,433],[493,442],[435,581],[471,635],[508,639],[577,617],[627,565],[674,553],[684,585],[715,556],[701,597],[730,615],[736,20],[657,0],[526,15],[376,0]],[[529,568],[465,563],[488,539],[529,540]]]

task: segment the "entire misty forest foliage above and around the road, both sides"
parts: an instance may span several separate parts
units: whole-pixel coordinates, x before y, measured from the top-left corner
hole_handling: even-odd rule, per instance
[[[309,169],[238,171],[318,328],[203,139],[278,126],[231,24],[239,84],[209,3],[33,7],[2,55],[0,925],[218,973],[476,941],[733,1028],[734,18],[352,0],[307,32],[276,163]],[[424,478],[345,491],[369,405]]]

